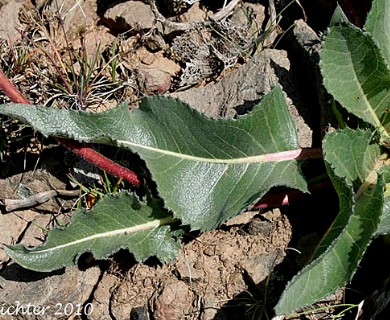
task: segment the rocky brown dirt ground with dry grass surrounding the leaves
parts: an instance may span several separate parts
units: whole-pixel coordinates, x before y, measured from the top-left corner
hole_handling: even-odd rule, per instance
[[[234,117],[279,83],[300,144],[318,145],[327,123],[313,71],[319,38],[304,21],[304,8],[295,3],[279,18],[283,1],[276,11],[273,1],[153,3],[0,1],[1,68],[35,104],[92,112],[167,94],[211,117]],[[313,105],[318,108],[308,108]],[[69,174],[84,185],[99,185],[104,176],[54,140],[9,119],[1,125],[0,200],[50,190],[57,196],[10,212],[3,206],[0,243],[39,245],[47,230],[70,220],[80,199],[65,192],[72,189]],[[102,151],[127,164],[126,155]],[[190,233],[169,264],[137,263],[121,250],[107,261],[85,255],[77,267],[37,273],[13,264],[0,247],[0,319],[269,319],[331,222],[326,212],[337,207],[329,197],[303,199]],[[4,313],[28,305],[28,312]]]

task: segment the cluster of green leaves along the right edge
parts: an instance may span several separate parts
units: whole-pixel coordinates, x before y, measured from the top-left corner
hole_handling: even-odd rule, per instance
[[[335,18],[337,17],[337,18]],[[309,264],[287,285],[275,310],[287,315],[351,280],[372,239],[390,232],[390,3],[376,0],[364,30],[335,13],[320,53],[324,85],[366,129],[339,129],[323,140],[339,214]]]

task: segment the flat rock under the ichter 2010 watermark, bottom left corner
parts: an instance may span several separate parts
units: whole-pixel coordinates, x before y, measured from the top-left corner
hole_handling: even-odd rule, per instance
[[[79,306],[81,308],[89,299],[99,275],[98,267],[86,271],[71,267],[66,271],[41,273],[11,264],[0,273],[0,306],[37,307],[44,312],[38,315],[31,312],[23,319],[52,319],[56,311],[69,316],[65,313],[78,312]]]

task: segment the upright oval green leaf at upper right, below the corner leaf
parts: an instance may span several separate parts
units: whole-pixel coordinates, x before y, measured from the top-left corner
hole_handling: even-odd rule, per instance
[[[351,24],[332,26],[320,53],[324,85],[350,113],[389,138],[390,71],[371,36]]]

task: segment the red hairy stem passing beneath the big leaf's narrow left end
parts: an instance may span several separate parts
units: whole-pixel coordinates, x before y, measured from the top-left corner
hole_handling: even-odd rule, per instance
[[[28,101],[20,93],[20,91],[13,85],[13,83],[4,75],[1,70],[0,89],[2,89],[5,94],[15,103],[31,104],[30,101]],[[124,180],[130,182],[136,187],[141,185],[141,181],[135,172],[125,167],[122,167],[121,165],[101,155],[94,149],[87,147],[77,141],[67,140],[63,138],[57,138],[57,141],[75,154],[96,165],[100,169],[105,170],[106,172],[114,176],[123,178]]]

